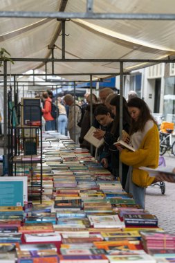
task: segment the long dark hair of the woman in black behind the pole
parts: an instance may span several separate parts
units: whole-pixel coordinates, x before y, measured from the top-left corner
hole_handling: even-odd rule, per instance
[[[111,129],[112,134],[116,134],[116,129],[119,128],[120,122],[120,95],[116,95],[111,99],[110,105],[116,106],[116,117],[113,121],[113,127]],[[123,125],[131,123],[131,116],[129,115],[129,111],[127,109],[127,100],[122,97],[122,123]]]

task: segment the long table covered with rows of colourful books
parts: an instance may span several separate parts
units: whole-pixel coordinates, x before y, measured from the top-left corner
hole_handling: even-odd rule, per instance
[[[165,233],[156,215],[141,209],[88,150],[56,132],[42,138],[42,202],[37,194],[26,198],[27,166],[21,180],[10,181],[20,187],[16,199],[8,182],[0,182],[0,262],[175,262],[175,235]],[[36,192],[39,165],[33,167]]]

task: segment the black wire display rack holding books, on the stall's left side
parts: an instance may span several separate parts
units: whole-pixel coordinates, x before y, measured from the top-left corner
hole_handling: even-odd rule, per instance
[[[32,100],[31,100],[32,101]],[[33,112],[35,111],[35,120]],[[37,118],[36,118],[37,113]],[[24,125],[24,115],[28,116]],[[22,117],[21,117],[22,116]],[[37,180],[35,179],[35,168]],[[42,110],[8,101],[8,176],[28,176],[28,200],[42,203]]]

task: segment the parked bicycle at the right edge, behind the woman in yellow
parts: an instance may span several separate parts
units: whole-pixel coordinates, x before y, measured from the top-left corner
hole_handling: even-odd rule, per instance
[[[171,153],[175,156],[175,136],[172,134],[173,129],[166,130],[167,133],[160,131],[160,155],[171,150]]]

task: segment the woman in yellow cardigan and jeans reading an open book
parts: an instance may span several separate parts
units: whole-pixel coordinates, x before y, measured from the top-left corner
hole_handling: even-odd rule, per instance
[[[130,166],[125,190],[133,194],[136,203],[145,208],[145,187],[154,183],[155,177],[150,177],[139,167],[158,167],[158,127],[144,100],[133,98],[129,100],[127,105],[132,118],[131,145],[136,149],[136,152],[118,146],[121,152],[120,161]]]

